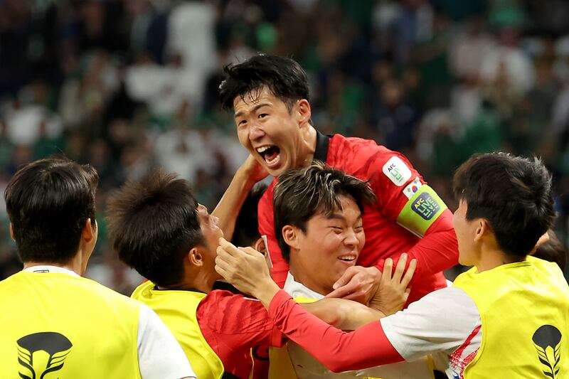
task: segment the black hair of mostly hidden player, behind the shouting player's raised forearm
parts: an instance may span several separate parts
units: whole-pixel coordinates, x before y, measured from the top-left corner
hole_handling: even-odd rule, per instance
[[[253,242],[261,237],[257,218],[257,205],[259,205],[259,201],[266,190],[267,185],[265,183],[257,183],[251,189],[247,198],[245,198],[245,202],[235,221],[235,230],[231,240],[233,245],[241,247],[251,246]]]

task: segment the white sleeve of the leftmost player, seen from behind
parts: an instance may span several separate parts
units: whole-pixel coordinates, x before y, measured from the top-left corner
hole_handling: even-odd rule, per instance
[[[139,315],[137,347],[142,379],[196,378],[176,338],[144,304]]]

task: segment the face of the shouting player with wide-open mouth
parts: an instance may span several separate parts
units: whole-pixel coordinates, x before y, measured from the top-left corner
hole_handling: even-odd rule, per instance
[[[267,87],[238,96],[233,100],[239,142],[272,176],[300,167],[302,134],[299,112],[291,112],[285,102],[272,95]]]

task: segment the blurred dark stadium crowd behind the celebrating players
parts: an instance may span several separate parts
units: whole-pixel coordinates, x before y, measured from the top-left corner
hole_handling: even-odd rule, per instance
[[[50,154],[95,166],[99,242],[87,276],[140,277],[105,238],[112,191],[153,166],[213,210],[247,154],[218,103],[221,68],[291,56],[321,132],[403,152],[454,210],[474,152],[537,154],[569,235],[569,2],[563,0],[2,0],[0,191]],[[21,269],[0,201],[0,279]]]

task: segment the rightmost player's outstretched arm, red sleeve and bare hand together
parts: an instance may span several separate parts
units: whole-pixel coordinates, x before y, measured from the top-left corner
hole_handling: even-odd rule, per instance
[[[378,321],[346,333],[304,310],[272,281],[260,252],[239,250],[221,239],[216,271],[241,291],[257,297],[275,326],[334,372],[403,361]]]

